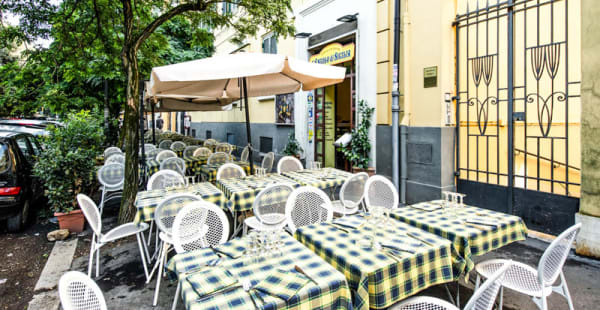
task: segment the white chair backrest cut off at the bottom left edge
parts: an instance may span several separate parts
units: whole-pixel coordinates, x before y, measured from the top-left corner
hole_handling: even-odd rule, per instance
[[[69,271],[58,282],[60,303],[65,310],[106,310],[102,291],[86,274]]]

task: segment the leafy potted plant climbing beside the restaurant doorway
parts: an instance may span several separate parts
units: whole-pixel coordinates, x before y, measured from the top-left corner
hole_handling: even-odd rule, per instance
[[[373,116],[374,111],[375,108],[369,107],[365,100],[358,102],[358,126],[352,129],[350,144],[338,148],[352,164],[352,173],[367,172],[369,176],[375,174],[375,168],[369,167],[369,153],[371,152],[369,129],[371,128],[371,116]]]

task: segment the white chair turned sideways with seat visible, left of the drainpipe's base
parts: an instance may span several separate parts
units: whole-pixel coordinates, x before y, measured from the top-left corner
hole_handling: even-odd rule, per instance
[[[332,201],[333,213],[343,216],[358,212],[358,207],[365,196],[367,179],[369,175],[366,172],[357,173],[346,179],[340,189],[340,200]]]

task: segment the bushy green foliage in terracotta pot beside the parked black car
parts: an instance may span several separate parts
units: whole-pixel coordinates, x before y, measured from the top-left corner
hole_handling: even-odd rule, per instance
[[[95,158],[102,153],[104,140],[101,120],[90,112],[69,114],[64,123],[64,128],[50,128],[34,167],[54,212],[74,210],[77,194],[93,191]]]

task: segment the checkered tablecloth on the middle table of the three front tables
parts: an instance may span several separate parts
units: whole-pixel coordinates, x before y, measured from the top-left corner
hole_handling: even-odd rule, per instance
[[[359,215],[352,217],[361,219]],[[448,240],[394,219],[378,227],[374,230],[372,224],[364,224],[358,229],[340,229],[331,223],[320,223],[298,228],[294,237],[346,276],[356,309],[386,308],[427,287],[455,279],[453,264],[463,260]],[[407,232],[427,244],[409,237]],[[373,235],[380,242],[387,240],[385,243],[414,253],[389,254],[388,248],[364,248],[358,244],[365,236]]]

